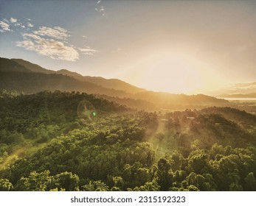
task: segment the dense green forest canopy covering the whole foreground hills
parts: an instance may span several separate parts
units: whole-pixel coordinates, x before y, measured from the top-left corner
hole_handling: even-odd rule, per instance
[[[256,191],[256,116],[2,90],[0,191]]]

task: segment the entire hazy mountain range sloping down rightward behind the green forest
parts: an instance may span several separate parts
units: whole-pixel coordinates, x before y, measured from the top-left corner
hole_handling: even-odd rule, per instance
[[[229,104],[224,99],[203,94],[188,96],[153,92],[120,79],[82,76],[66,69],[52,71],[21,59],[0,58],[0,74],[0,90],[24,93],[42,90],[79,91],[139,109],[184,109]]]

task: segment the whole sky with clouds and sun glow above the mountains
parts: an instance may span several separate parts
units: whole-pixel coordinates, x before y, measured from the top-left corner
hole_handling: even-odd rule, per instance
[[[255,34],[256,1],[0,0],[0,57],[154,91],[255,82]]]

